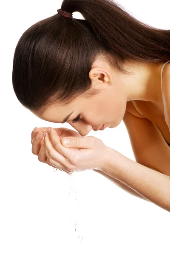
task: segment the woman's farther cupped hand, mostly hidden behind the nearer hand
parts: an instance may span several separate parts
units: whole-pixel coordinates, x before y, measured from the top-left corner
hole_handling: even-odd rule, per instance
[[[32,144],[32,153],[34,155],[38,156],[38,160],[42,163],[48,163],[49,166],[54,167],[53,165],[51,165],[48,162],[48,159],[46,157],[45,154],[45,147],[44,147],[44,139],[43,139],[43,131],[47,130],[48,127],[41,127],[41,128],[35,128],[32,132],[31,132],[31,144]],[[68,128],[54,128],[54,130],[56,131],[56,133],[59,135],[59,137],[62,139],[63,137],[82,137],[77,131],[73,131],[71,129]],[[36,139],[36,136],[40,135],[40,138]],[[60,167],[61,169],[64,169],[64,166],[58,164],[58,167]],[[66,169],[65,169],[66,171]],[[68,170],[67,170],[68,172]]]

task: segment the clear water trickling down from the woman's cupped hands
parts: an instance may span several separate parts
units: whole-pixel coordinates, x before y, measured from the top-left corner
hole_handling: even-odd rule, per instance
[[[55,169],[55,168],[54,168]],[[54,170],[54,172],[56,172],[57,169]],[[65,171],[60,171],[63,173],[67,173]],[[68,189],[68,219],[70,222],[70,227],[71,230],[73,230],[73,234],[71,234],[71,245],[68,245],[69,248],[69,253],[71,252],[71,250],[73,250],[73,253],[75,255],[75,253],[78,252],[78,250],[80,249],[83,237],[80,231],[80,227],[79,227],[79,202],[77,200],[77,193],[75,191],[75,185],[74,185],[74,172],[68,172],[67,173],[67,177],[69,178],[70,182],[69,182],[69,189]],[[68,244],[68,242],[67,242]]]

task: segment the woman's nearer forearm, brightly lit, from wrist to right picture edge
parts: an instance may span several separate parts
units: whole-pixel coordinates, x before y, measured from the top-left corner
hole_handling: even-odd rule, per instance
[[[170,177],[156,172],[109,148],[102,172],[125,183],[150,202],[170,212]]]

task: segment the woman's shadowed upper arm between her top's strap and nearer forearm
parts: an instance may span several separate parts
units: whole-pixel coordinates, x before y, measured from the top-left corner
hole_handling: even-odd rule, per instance
[[[125,112],[123,122],[137,163],[170,176],[170,147],[156,126],[147,118]]]

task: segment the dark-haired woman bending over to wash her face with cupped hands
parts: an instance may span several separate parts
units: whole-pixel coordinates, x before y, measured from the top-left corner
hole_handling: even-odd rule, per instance
[[[50,128],[43,140],[47,128],[36,128],[32,153],[66,172],[94,169],[170,211],[170,31],[146,25],[108,0],[64,0],[57,11],[21,36],[12,83],[17,99],[36,116],[68,122],[78,132]],[[72,18],[73,12],[85,20]],[[122,120],[136,162],[84,137]],[[63,137],[71,144],[64,145]]]

